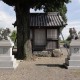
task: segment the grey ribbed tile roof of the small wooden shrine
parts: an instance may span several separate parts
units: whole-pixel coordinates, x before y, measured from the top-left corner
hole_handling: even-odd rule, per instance
[[[63,27],[66,25],[58,12],[30,13],[29,20],[31,27]]]

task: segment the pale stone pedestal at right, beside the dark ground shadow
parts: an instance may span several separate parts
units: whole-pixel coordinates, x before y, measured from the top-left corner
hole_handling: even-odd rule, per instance
[[[70,54],[65,61],[68,69],[80,69],[80,39],[71,41]]]

